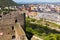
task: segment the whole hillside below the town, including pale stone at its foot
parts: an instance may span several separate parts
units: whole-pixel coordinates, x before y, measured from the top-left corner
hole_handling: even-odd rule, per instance
[[[26,17],[26,33],[29,39],[35,40],[40,38],[43,40],[60,40],[60,31],[50,27],[60,27],[60,25],[40,19]],[[33,37],[34,36],[34,37]],[[39,39],[38,38],[38,39]]]

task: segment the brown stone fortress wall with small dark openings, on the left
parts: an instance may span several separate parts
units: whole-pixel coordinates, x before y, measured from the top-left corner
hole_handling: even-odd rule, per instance
[[[0,15],[0,35],[1,40],[12,40],[15,36],[14,25],[19,22],[21,27],[24,27],[24,14],[18,11],[13,11]]]

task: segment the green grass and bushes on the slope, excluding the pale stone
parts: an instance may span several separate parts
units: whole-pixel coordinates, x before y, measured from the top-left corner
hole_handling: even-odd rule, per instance
[[[33,23],[31,23],[33,22]],[[45,26],[42,24],[42,22],[45,24]],[[43,21],[43,20],[34,20],[32,18],[26,18],[26,31],[30,32],[40,38],[43,38],[44,40],[50,40],[50,36],[53,36],[51,40],[60,40],[60,32],[56,31],[56,30],[52,30],[48,27],[48,25],[54,25],[55,23],[51,23],[48,21]],[[53,26],[53,27],[54,27]],[[59,25],[56,24],[56,27],[58,27]],[[59,34],[59,36],[58,36]],[[58,37],[58,38],[57,38]]]

